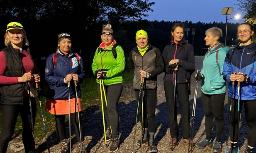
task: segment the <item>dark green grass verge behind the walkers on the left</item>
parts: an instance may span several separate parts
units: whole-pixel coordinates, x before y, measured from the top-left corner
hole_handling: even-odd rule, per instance
[[[124,72],[124,84],[132,83],[132,77],[133,75],[125,71]],[[97,91],[97,83],[95,78],[86,78],[82,84],[80,84],[81,88],[81,101],[82,101],[82,109],[85,110],[86,108],[90,107],[91,105],[98,105],[98,91]],[[49,112],[45,111],[45,101],[46,98],[44,96],[40,96],[41,98],[41,104],[42,104],[42,111],[44,115],[44,121],[46,125],[46,131],[49,135],[51,132],[55,131],[55,119],[54,115],[51,115]],[[41,119],[41,110],[39,107],[39,100],[37,100],[37,115],[36,115],[36,121],[34,125],[34,135],[37,138],[44,138],[44,127],[43,122]],[[68,116],[66,117],[66,120],[68,120]],[[2,114],[0,111],[0,130],[2,129]],[[20,115],[17,118],[17,123],[14,131],[14,135],[18,136],[22,134],[22,120]]]

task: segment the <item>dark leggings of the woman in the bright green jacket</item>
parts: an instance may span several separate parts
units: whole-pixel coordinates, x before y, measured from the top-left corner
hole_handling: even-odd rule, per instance
[[[107,120],[107,125],[111,129],[112,138],[119,138],[118,125],[119,116],[117,112],[117,103],[122,93],[123,86],[105,86],[105,93],[107,98],[107,106],[105,103],[104,93],[102,90],[102,103],[104,106],[104,116]],[[98,85],[98,94],[100,96],[100,85]]]

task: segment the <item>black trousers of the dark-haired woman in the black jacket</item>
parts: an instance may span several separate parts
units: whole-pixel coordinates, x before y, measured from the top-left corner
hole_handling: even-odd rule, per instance
[[[170,134],[172,138],[179,137],[178,131],[178,121],[177,121],[177,104],[175,101],[175,107],[173,108],[174,103],[174,84],[171,82],[163,82],[163,87],[166,96],[167,107],[169,111],[169,127],[170,127]],[[176,95],[179,101],[180,106],[180,115],[182,121],[182,137],[184,139],[190,138],[190,119],[189,119],[189,98],[188,98],[188,84],[176,84]],[[174,117],[173,117],[174,111]],[[174,119],[174,125],[173,125]],[[174,127],[174,129],[173,129]],[[174,133],[173,133],[174,132]]]

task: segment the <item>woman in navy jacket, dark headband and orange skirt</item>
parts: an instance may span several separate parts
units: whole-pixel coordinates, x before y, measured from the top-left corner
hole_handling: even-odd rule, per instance
[[[81,113],[79,113],[80,130],[78,125],[78,116],[76,112],[81,112],[81,90],[79,84],[83,82],[85,72],[83,70],[82,58],[71,51],[71,36],[68,33],[61,33],[58,35],[58,48],[56,53],[51,54],[46,59],[45,79],[49,84],[46,100],[46,110],[48,110],[55,117],[56,131],[61,140],[61,153],[68,151],[66,140],[65,116],[69,114],[69,100],[70,93],[71,103],[71,122],[76,130],[76,137],[80,147],[80,133],[82,141],[84,141],[84,130],[81,120]],[[76,105],[76,89],[74,81],[77,81],[77,95],[78,107]],[[70,87],[68,88],[68,82]],[[68,93],[69,92],[69,93]],[[83,153],[85,153],[84,142],[82,142]],[[80,150],[81,147],[80,147]]]

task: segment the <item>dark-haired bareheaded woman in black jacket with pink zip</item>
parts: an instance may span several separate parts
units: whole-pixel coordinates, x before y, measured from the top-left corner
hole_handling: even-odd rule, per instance
[[[189,43],[183,42],[184,29],[185,26],[183,24],[175,23],[171,29],[171,44],[167,45],[163,50],[163,60],[166,65],[166,72],[163,78],[163,86],[169,111],[169,126],[171,133],[170,143],[173,145],[176,145],[179,137],[177,108],[173,108],[173,103],[175,103],[176,106],[176,101],[174,101],[173,97],[174,95],[177,95],[180,106],[183,141],[188,144],[192,143],[192,141],[190,140],[190,107],[188,96],[190,76],[195,71],[195,57],[193,46]],[[172,68],[173,65],[175,65],[176,67]],[[176,78],[174,77],[175,73],[177,76]],[[175,80],[176,93],[174,93]]]

